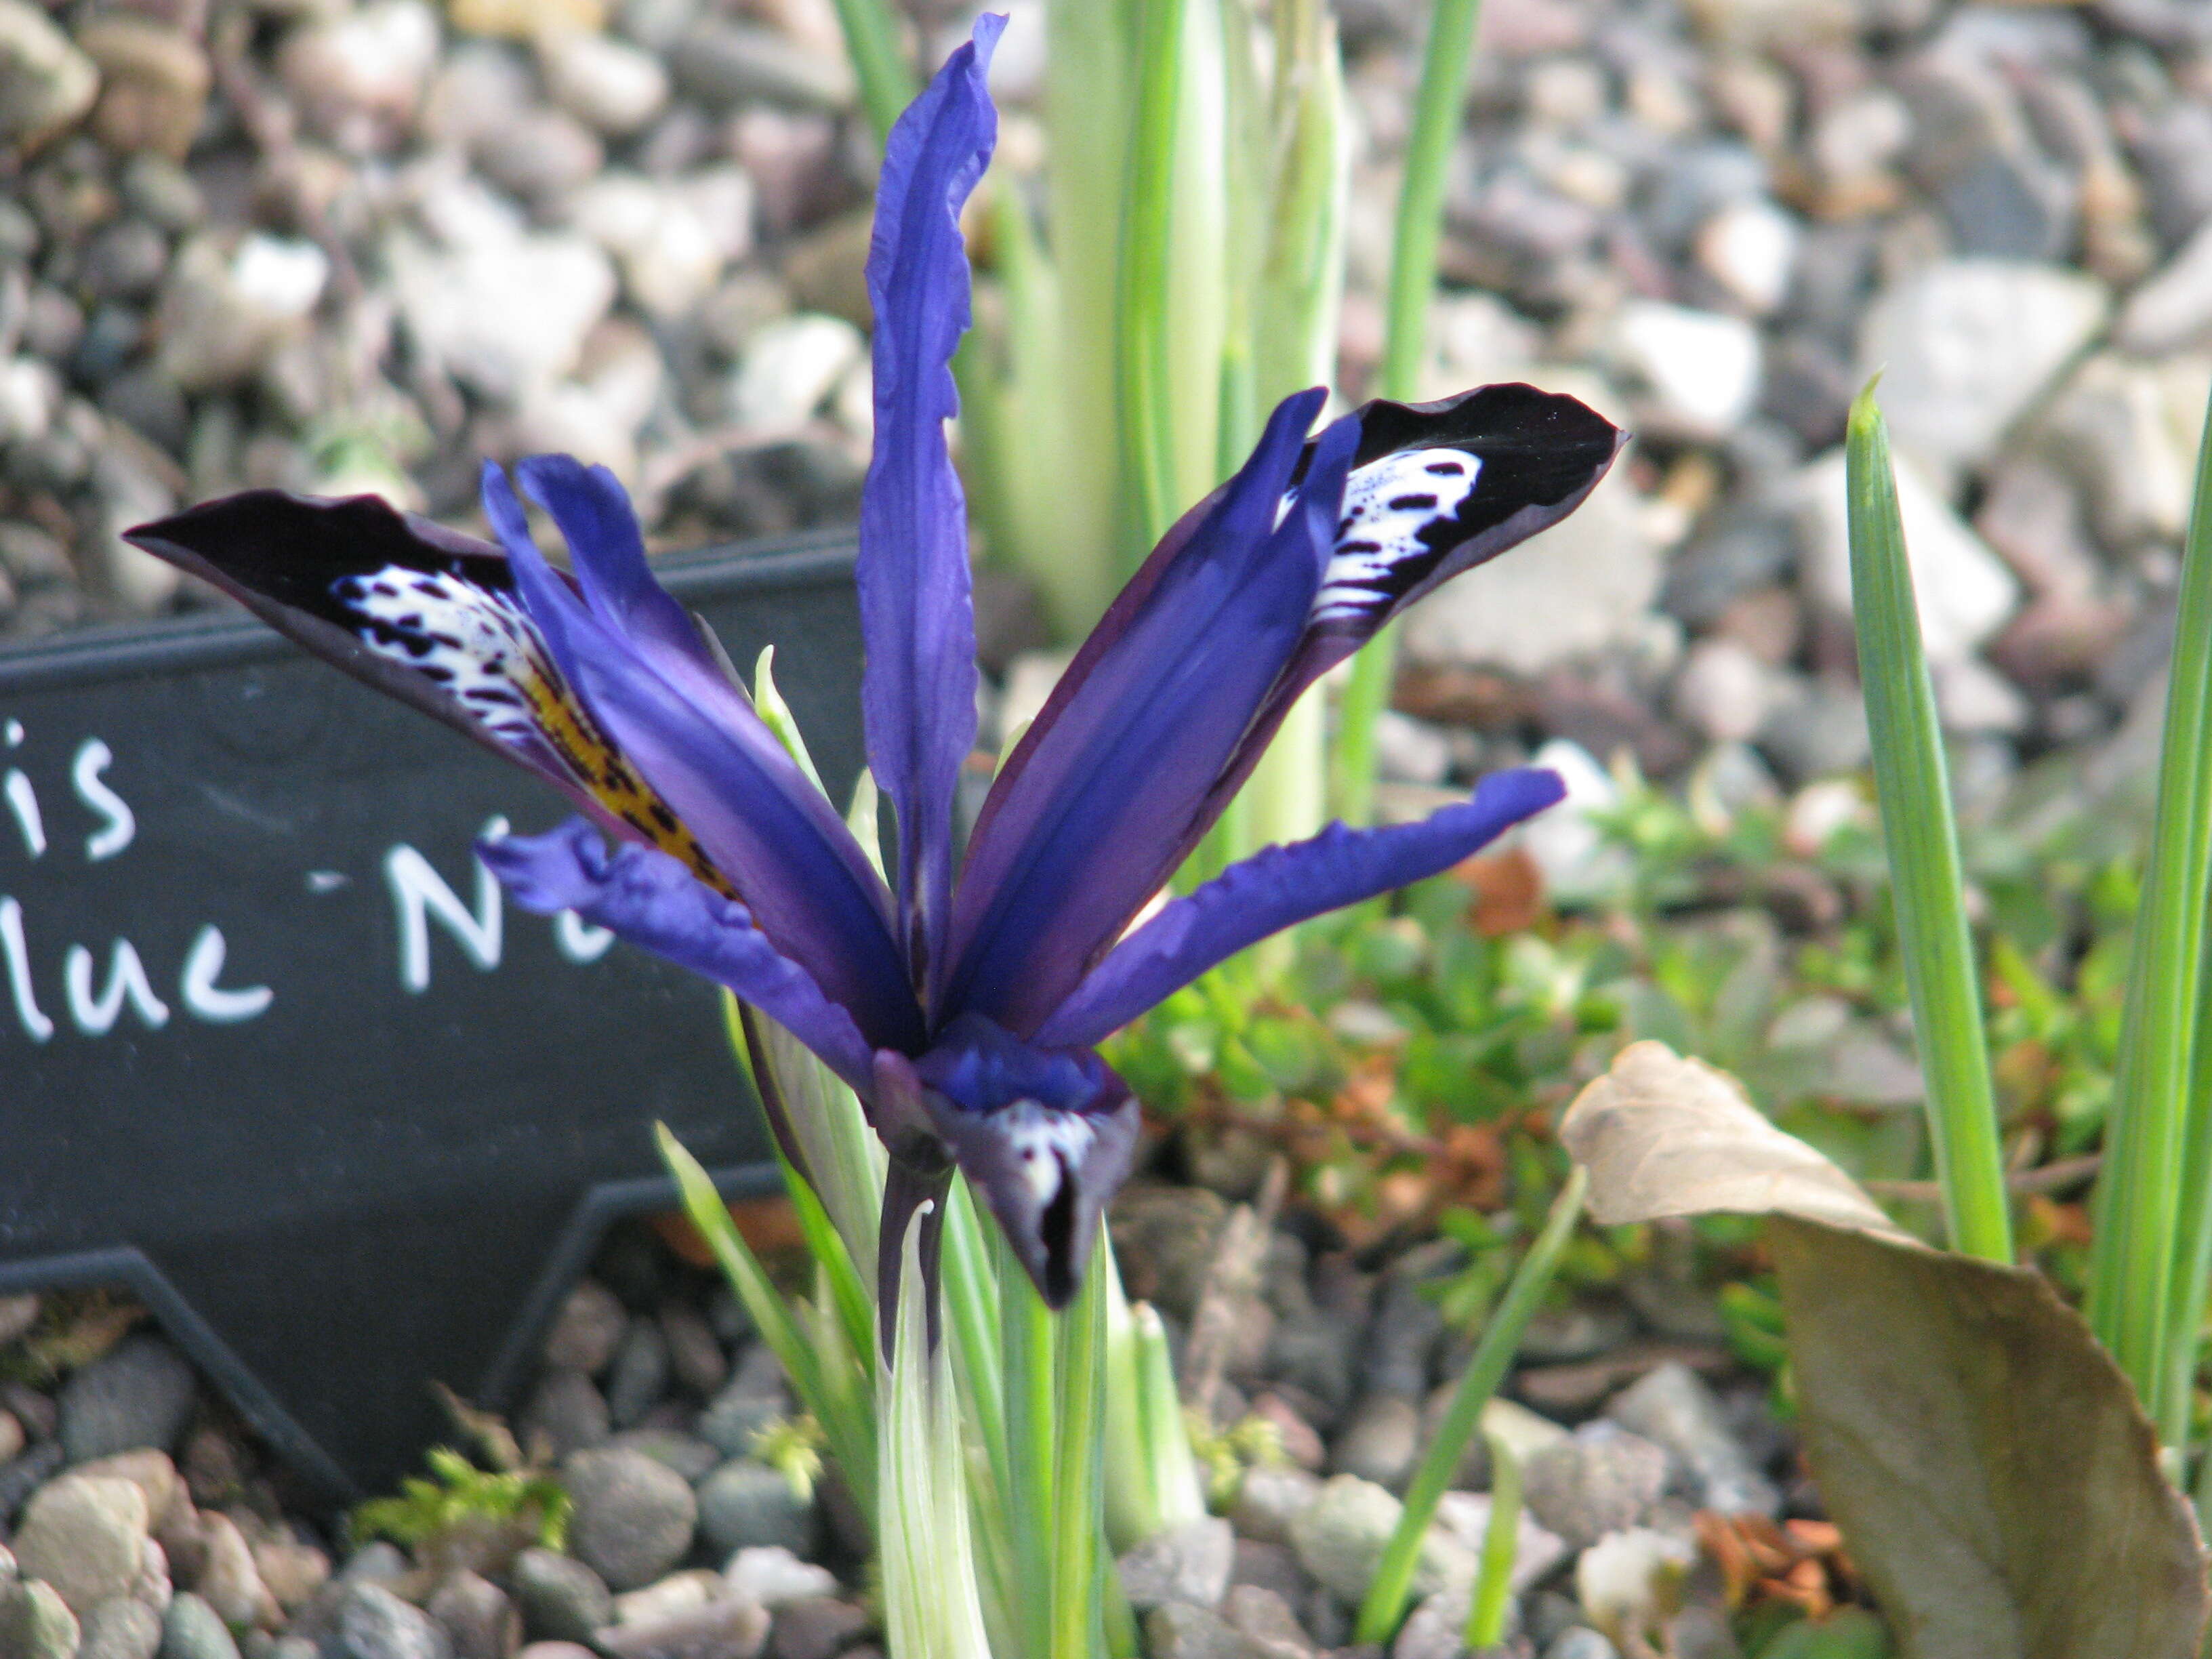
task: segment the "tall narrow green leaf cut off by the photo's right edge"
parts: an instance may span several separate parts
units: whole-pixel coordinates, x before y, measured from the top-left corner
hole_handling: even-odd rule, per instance
[[[2099,1192],[2093,1323],[2112,1336],[2137,1321],[2112,1318],[2115,1301],[2132,1294],[2137,1241],[2121,1208],[2143,1203],[2152,1183],[2174,1188],[2177,1241],[2170,1314],[2161,1336],[2163,1369],[2148,1396],[2166,1444],[2188,1449],[2197,1345],[2212,1270],[2212,984],[2205,984],[2205,891],[2212,865],[2212,418],[2197,451],[2197,500],[2181,553],[2181,602],[2174,655],[2166,681],[2166,737],[2159,752],[2159,803],[2150,830],[2143,902],[2135,916],[2135,962],[2121,1013],[2119,1077],[2106,1128]],[[2168,1121],[2179,1119],[2179,1121]],[[2166,1137],[2179,1137],[2172,1164],[2157,1159]],[[2112,1228],[2112,1241],[2106,1241]],[[2148,1239],[2141,1241],[2148,1248]],[[2148,1272],[2146,1272],[2148,1276]],[[2115,1347],[2115,1354],[2119,1349]],[[2126,1358],[2121,1360],[2126,1367]],[[2132,1376],[2132,1367],[2130,1376]],[[2137,1376],[2141,1387],[2143,1378]]]

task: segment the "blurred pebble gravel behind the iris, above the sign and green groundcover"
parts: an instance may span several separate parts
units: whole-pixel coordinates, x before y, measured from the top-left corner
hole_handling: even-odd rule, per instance
[[[916,13],[925,53],[967,24]],[[1340,18],[1356,396],[1427,9]],[[467,522],[478,456],[560,447],[659,546],[854,511],[830,0],[0,0],[0,639],[204,602],[115,531],[246,484]],[[2201,4],[1495,0],[1444,276],[1433,392],[1537,378],[1639,445],[1416,617],[1409,805],[1546,739],[1739,792],[1856,765],[1836,445],[1876,369],[1969,801],[2154,684],[2212,387]],[[995,668],[1046,644],[984,611]]]

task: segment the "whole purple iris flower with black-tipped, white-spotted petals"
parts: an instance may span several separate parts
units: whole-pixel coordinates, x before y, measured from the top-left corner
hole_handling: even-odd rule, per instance
[[[1621,434],[1573,398],[1498,385],[1371,403],[1307,440],[1323,392],[1287,398],[1084,641],[956,858],[978,679],[945,422],[969,325],[958,215],[998,128],[984,69],[1002,27],[978,22],[891,131],[867,263],[860,695],[869,768],[896,812],[889,885],[653,580],[606,469],[518,467],[573,575],[544,562],[489,465],[498,546],[376,498],[281,491],[131,540],[562,790],[582,818],[480,847],[515,898],[728,987],[852,1084],[891,1155],[889,1261],[914,1208],[960,1168],[1062,1305],[1139,1121],[1095,1044],[1267,933],[1447,869],[1562,785],[1502,772],[1425,823],[1332,825],[1133,918],[1298,692],[1411,599],[1573,511]],[[779,1137],[792,1148],[787,1128]]]

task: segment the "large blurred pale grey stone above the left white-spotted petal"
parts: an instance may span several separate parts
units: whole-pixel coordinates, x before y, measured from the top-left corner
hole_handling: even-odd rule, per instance
[[[615,270],[582,237],[542,234],[434,252],[389,252],[400,314],[449,374],[495,403],[575,367],[584,336],[615,303]]]

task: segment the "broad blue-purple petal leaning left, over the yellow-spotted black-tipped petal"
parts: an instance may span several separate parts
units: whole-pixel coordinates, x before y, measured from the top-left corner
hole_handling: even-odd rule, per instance
[[[922,1020],[891,942],[883,885],[836,812],[752,710],[717,719],[602,624],[531,544],[498,467],[484,509],[531,619],[593,717],[732,883],[752,922],[845,1004],[874,1044],[920,1042]]]

